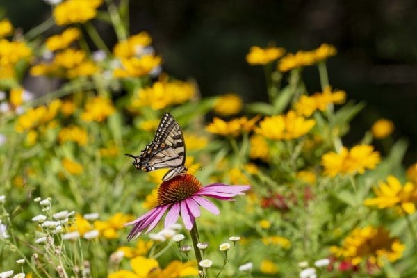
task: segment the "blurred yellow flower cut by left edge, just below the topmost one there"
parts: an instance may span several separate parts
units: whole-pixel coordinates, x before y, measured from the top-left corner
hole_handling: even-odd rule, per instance
[[[31,55],[32,50],[24,42],[0,39],[0,67],[13,66],[19,60],[28,60]]]

